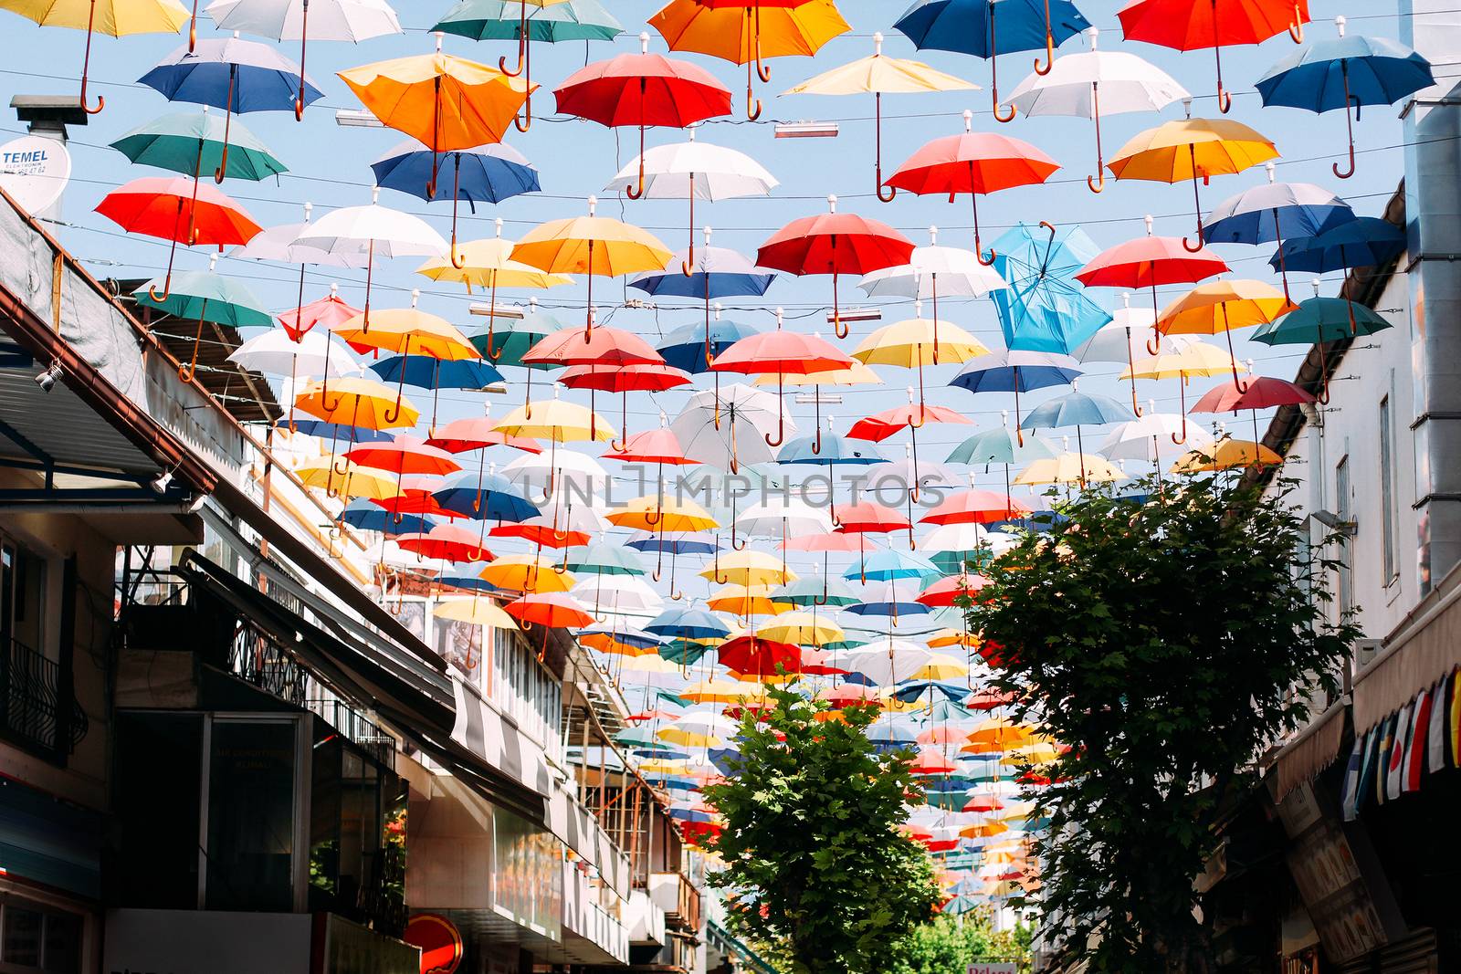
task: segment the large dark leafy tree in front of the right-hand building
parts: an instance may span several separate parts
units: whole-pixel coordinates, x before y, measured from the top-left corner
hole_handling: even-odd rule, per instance
[[[1137,492],[1062,507],[993,564],[969,622],[1020,717],[1069,745],[1031,789],[1049,816],[1039,905],[1068,959],[1207,971],[1192,881],[1224,802],[1311,692],[1335,692],[1357,631],[1327,622],[1332,562],[1286,491],[1204,476]]]

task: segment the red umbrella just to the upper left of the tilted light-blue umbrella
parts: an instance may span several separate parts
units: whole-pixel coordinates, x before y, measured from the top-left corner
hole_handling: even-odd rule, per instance
[[[1045,183],[1061,164],[1021,139],[976,133],[973,118],[974,114],[966,110],[964,134],[934,139],[909,156],[884,185],[918,196],[948,194],[950,203],[960,193],[969,193],[974,207],[974,253],[988,267],[995,263],[995,253],[991,250],[985,260],[979,245],[979,194]]]

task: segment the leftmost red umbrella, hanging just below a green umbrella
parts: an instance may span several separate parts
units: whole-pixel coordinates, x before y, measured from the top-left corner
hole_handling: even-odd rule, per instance
[[[129,234],[145,234],[169,241],[168,272],[162,294],[148,288],[153,301],[165,301],[172,289],[172,257],[177,245],[247,244],[263,228],[238,203],[212,185],[183,177],[143,177],[112,190],[96,204],[96,212]]]

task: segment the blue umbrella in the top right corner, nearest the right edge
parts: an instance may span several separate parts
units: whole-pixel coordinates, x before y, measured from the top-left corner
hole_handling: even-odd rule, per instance
[[[1325,112],[1344,110],[1344,127],[1350,139],[1350,168],[1334,175],[1347,180],[1354,175],[1354,118],[1363,105],[1394,105],[1405,95],[1436,83],[1430,61],[1388,38],[1344,37],[1344,19],[1337,18],[1340,37],[1316,41],[1270,67],[1258,79],[1258,95],[1264,105],[1287,105]]]

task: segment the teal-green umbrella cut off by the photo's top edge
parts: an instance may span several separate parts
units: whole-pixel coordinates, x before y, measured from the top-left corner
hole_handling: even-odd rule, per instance
[[[497,67],[511,77],[522,77],[529,86],[533,80],[533,41],[612,41],[624,34],[599,0],[459,0],[431,29],[473,41],[517,41],[517,67],[508,70],[506,57],[498,58]],[[519,131],[532,127],[530,93],[523,104],[523,115],[513,124]]]

